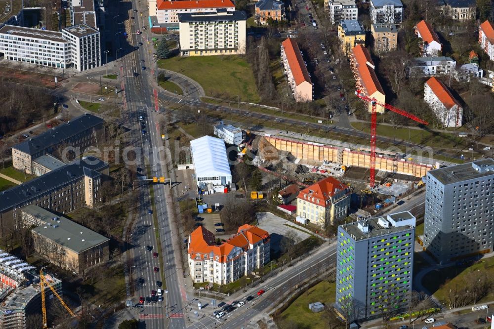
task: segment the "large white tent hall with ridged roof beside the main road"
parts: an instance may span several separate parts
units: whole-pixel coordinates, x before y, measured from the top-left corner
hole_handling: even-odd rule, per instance
[[[198,186],[232,183],[232,172],[222,139],[204,136],[191,140],[190,148]]]

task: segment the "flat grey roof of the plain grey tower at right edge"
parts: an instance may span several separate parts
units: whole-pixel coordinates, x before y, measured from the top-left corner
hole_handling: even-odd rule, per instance
[[[492,168],[494,166],[494,160],[484,159],[480,161],[470,162],[467,164],[458,164],[450,167],[434,169],[434,170],[430,170],[429,174],[431,176],[434,176],[434,178],[436,178],[438,181],[440,181],[445,185],[494,175],[494,170],[493,170],[494,168],[492,168],[489,171],[488,170],[482,171],[482,170],[476,170],[474,165],[488,166]]]

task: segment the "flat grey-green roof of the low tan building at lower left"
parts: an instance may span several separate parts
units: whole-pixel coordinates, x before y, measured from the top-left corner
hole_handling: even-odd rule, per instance
[[[23,212],[29,213],[45,222],[32,231],[55,243],[81,253],[92,247],[96,247],[110,239],[84,227],[66,217],[48,211],[40,206],[26,206]],[[53,220],[53,218],[57,218]]]

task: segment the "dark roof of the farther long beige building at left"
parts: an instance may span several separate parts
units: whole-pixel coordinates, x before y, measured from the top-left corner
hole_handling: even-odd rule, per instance
[[[86,113],[71,120],[70,122],[62,123],[38,136],[29,138],[20,144],[14,145],[12,148],[30,155],[34,155],[66,139],[69,139],[72,136],[80,134],[84,130],[90,129],[102,123],[104,123],[103,119]]]

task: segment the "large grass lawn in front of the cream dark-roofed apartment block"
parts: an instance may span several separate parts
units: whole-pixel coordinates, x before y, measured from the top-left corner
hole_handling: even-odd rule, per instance
[[[160,68],[179,72],[198,82],[206,95],[222,95],[257,103],[260,98],[250,65],[241,57],[176,56],[160,60]]]

